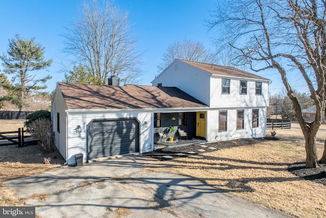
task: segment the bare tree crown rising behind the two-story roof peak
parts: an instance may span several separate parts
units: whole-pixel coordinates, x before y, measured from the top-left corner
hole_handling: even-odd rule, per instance
[[[157,65],[161,72],[175,59],[195,61],[202,63],[215,63],[214,55],[205,49],[204,45],[198,41],[184,38],[170,44],[167,51],[163,54],[162,62]]]

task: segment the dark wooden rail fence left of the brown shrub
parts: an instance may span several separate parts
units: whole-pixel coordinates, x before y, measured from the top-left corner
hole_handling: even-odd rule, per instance
[[[36,140],[25,141],[25,138],[31,137],[30,135],[24,135],[25,132],[24,128],[18,128],[18,131],[0,132],[0,146],[13,146],[17,144],[18,148],[22,148],[35,144]],[[5,143],[2,143],[3,141]]]

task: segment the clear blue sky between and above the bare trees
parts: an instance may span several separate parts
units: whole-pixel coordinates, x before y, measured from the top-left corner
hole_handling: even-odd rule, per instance
[[[216,0],[115,1],[120,9],[128,11],[133,34],[139,38],[139,49],[144,52],[142,85],[151,85],[157,74],[156,66],[168,45],[178,39],[196,40],[206,49],[214,50],[211,39],[216,33],[208,32],[204,20],[209,19],[209,10],[215,8],[215,3]],[[47,91],[52,91],[56,83],[64,79],[62,63],[66,62],[61,34],[76,17],[82,4],[83,1],[77,0],[0,0],[0,54],[6,54],[8,40],[15,34],[24,38],[36,37],[35,41],[45,46],[45,57],[53,59],[48,72],[43,70],[36,74],[52,76],[46,83]],[[283,84],[277,71],[268,70],[257,75],[273,80],[269,86],[271,94],[282,90]],[[301,77],[289,78],[294,89],[306,91]]]

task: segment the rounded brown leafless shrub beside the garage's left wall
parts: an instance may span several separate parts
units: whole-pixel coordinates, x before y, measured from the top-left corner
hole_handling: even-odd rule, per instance
[[[28,131],[40,142],[47,152],[55,150],[55,134],[52,129],[52,122],[48,118],[38,118],[28,125]]]

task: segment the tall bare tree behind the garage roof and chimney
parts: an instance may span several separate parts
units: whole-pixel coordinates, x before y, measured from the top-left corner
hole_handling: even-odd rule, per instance
[[[71,28],[66,29],[64,52],[89,69],[94,84],[107,84],[110,76],[136,83],[141,75],[137,39],[131,35],[128,14],[109,2],[86,3]]]

